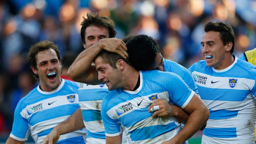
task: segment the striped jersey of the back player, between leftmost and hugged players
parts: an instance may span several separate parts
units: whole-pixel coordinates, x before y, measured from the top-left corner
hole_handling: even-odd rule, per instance
[[[87,129],[87,144],[105,144],[106,136],[101,118],[101,102],[109,93],[105,84],[88,85],[78,84],[79,104],[82,110],[84,125]]]

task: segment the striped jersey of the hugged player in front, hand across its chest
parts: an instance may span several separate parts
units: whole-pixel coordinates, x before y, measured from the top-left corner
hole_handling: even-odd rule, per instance
[[[158,70],[140,71],[140,86],[136,91],[112,90],[104,97],[101,115],[106,136],[126,133],[130,144],[158,144],[170,140],[180,131],[175,118],[156,117],[148,112],[155,99],[164,99],[184,108],[194,95],[176,74]]]

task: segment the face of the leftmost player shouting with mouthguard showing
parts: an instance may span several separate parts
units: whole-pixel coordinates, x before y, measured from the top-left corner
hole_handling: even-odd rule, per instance
[[[61,84],[61,63],[53,49],[40,51],[36,55],[36,68],[31,69],[38,75],[43,91],[53,91]]]

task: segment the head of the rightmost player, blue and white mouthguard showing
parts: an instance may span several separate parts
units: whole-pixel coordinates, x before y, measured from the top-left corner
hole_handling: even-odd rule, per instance
[[[201,41],[202,53],[206,64],[215,69],[224,69],[230,65],[234,51],[235,35],[231,26],[223,22],[208,22],[204,26]]]

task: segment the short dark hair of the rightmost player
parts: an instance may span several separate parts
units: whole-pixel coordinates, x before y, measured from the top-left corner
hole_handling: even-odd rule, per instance
[[[228,42],[232,42],[232,48],[230,53],[232,54],[235,47],[235,33],[232,27],[225,22],[208,22],[204,25],[204,32],[215,31],[220,33],[220,39],[223,44],[226,45]]]

